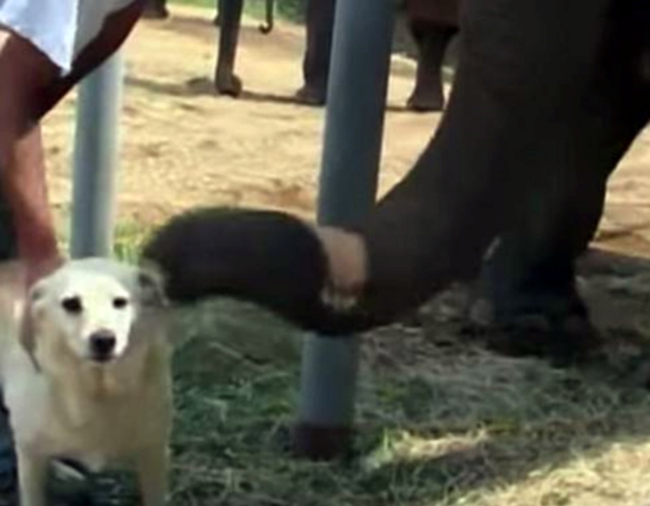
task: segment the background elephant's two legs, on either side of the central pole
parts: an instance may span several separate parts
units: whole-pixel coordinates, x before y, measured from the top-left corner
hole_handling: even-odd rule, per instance
[[[417,46],[415,87],[406,106],[413,111],[442,111],[442,64],[445,51],[458,33],[459,0],[404,0],[409,32]],[[304,85],[296,93],[302,103],[324,105],[336,0],[307,1],[307,47],[303,60]]]

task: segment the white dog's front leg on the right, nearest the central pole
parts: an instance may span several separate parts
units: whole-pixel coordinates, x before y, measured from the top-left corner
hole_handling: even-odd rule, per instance
[[[163,506],[167,495],[168,451],[164,444],[143,449],[136,466],[143,506]]]

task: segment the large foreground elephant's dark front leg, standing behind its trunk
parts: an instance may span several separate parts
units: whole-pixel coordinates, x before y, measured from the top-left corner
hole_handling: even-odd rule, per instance
[[[634,9],[622,16],[637,18]],[[509,330],[496,344],[510,353],[571,360],[594,343],[575,258],[597,229],[609,174],[650,116],[649,83],[637,70],[642,26],[610,27],[590,93],[562,123],[539,132],[545,148],[530,172],[542,176],[484,264],[494,323]]]

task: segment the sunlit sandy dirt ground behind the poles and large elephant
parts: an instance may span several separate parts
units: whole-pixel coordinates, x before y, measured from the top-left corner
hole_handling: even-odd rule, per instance
[[[257,23],[246,23],[237,68],[246,96],[231,100],[215,96],[209,81],[216,36],[211,12],[175,6],[173,12],[170,21],[140,23],[127,45],[120,219],[160,220],[215,204],[311,215],[324,112],[287,103],[302,80],[302,29],[279,23],[263,36]],[[382,193],[410,168],[439,120],[439,114],[403,110],[412,82],[413,63],[396,60]],[[70,201],[73,103],[71,97],[60,105],[45,127],[53,198],[62,209]],[[648,167],[646,132],[610,182],[602,223],[608,246],[650,254]]]

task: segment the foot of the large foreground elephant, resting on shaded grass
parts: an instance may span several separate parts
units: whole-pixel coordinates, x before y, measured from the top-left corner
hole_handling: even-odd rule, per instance
[[[507,317],[490,314],[486,299],[474,302],[466,330],[491,351],[505,356],[536,357],[556,367],[599,358],[603,339],[582,304],[571,310],[521,312]]]

